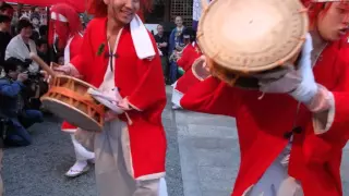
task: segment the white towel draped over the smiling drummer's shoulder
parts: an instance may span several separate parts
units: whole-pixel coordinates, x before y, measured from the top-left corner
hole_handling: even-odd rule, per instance
[[[148,59],[155,56],[155,49],[152,44],[148,30],[145,28],[143,22],[135,15],[130,24],[131,36],[135,52],[140,59]]]

